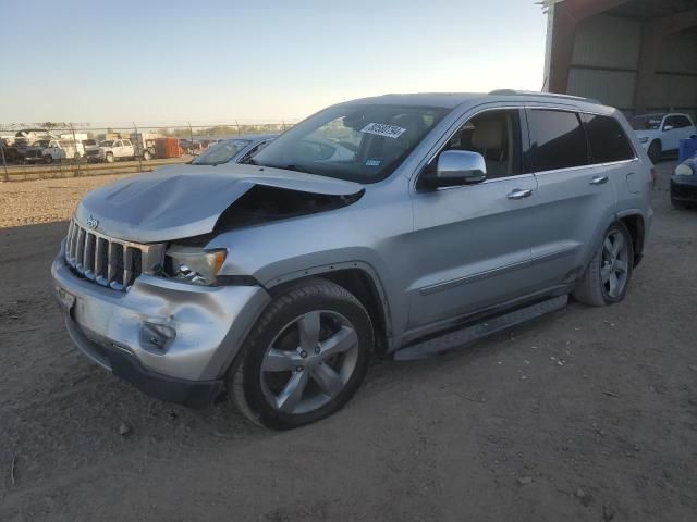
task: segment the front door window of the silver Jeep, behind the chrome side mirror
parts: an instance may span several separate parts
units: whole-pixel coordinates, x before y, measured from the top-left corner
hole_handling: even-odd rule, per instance
[[[519,120],[517,110],[478,114],[460,127],[442,151],[467,150],[480,153],[487,163],[487,178],[521,174]],[[437,161],[432,161],[428,171],[435,171],[436,165]]]

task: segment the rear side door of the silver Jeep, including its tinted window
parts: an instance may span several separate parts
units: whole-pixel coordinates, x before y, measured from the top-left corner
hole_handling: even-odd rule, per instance
[[[591,160],[580,115],[570,109],[526,111],[538,184],[534,277],[543,287],[565,285],[583,272],[596,239],[615,211],[607,170]]]

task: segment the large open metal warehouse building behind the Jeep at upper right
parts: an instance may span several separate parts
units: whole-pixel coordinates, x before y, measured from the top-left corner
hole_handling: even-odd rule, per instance
[[[543,0],[545,90],[697,113],[697,0]]]

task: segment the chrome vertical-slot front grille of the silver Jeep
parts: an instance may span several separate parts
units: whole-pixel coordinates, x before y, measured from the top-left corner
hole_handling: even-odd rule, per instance
[[[65,238],[65,262],[77,275],[126,291],[145,271],[162,260],[164,245],[142,245],[105,236],[71,220]]]

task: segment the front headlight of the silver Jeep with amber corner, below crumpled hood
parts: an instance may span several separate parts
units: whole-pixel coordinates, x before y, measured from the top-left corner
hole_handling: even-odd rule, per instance
[[[164,252],[166,272],[186,283],[197,285],[212,285],[222,264],[225,262],[228,250],[206,250],[184,245],[172,245]]]

